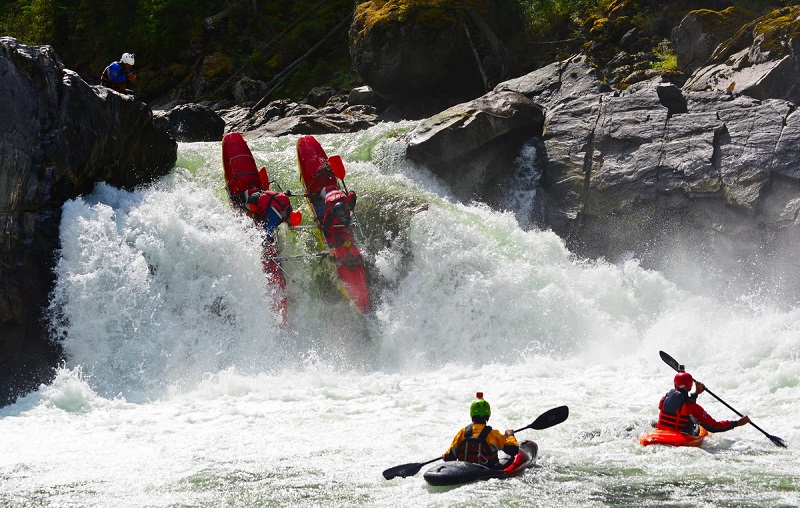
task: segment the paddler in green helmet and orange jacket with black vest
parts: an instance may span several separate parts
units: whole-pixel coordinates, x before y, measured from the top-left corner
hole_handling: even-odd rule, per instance
[[[500,468],[505,464],[500,463],[497,452],[503,450],[513,457],[519,452],[519,443],[513,430],[508,429],[501,434],[486,424],[492,409],[483,399],[483,392],[476,395],[478,400],[473,401],[469,407],[472,423],[458,431],[450,448],[442,455],[442,460],[463,460],[493,469]]]

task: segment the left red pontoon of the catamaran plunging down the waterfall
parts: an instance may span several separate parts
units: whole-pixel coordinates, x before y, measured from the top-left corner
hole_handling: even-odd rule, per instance
[[[238,132],[231,132],[222,138],[222,165],[225,170],[228,197],[235,206],[242,207],[244,205],[239,196],[242,192],[253,187],[259,190],[269,189],[267,169],[258,169],[247,142]],[[242,210],[253,217],[252,212],[244,208]],[[277,256],[278,250],[275,243],[266,243],[261,253],[261,262],[264,273],[267,275],[267,283],[270,288],[273,288],[272,307],[280,314],[283,324],[286,321],[286,279],[284,279],[280,264],[275,259]]]

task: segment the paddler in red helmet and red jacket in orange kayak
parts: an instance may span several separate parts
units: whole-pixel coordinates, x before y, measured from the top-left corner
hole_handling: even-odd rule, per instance
[[[695,392],[689,395],[693,381],[692,375],[688,372],[678,372],[675,375],[675,379],[673,379],[675,388],[667,392],[658,404],[660,412],[656,424],[657,429],[674,430],[696,436],[700,431],[697,427],[698,423],[709,432],[725,432],[750,423],[748,416],[743,416],[736,421],[717,421],[712,418],[696,402],[697,396],[705,390],[703,383],[697,381]]]

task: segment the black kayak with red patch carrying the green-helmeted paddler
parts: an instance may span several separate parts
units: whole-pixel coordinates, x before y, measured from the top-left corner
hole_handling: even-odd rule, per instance
[[[539,446],[536,443],[523,441],[519,445],[519,452],[514,456],[514,460],[502,469],[490,469],[480,464],[453,461],[433,466],[425,471],[422,477],[429,484],[436,486],[459,485],[491,478],[511,478],[532,466],[536,462],[538,452]]]

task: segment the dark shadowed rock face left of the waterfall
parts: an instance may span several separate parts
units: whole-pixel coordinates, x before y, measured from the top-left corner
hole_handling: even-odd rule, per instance
[[[49,46],[0,37],[0,405],[61,358],[45,321],[61,205],[96,182],[168,173],[177,143],[133,96],[92,87]]]

